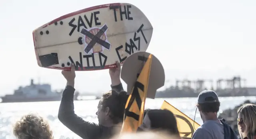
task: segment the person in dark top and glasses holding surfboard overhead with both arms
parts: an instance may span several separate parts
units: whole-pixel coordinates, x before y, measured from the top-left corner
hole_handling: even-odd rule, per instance
[[[71,70],[63,70],[62,74],[67,80],[66,88],[63,91],[58,119],[71,131],[83,139],[108,139],[122,128],[124,118],[124,108],[128,99],[128,94],[123,91],[120,81],[121,66],[110,69],[112,90],[102,95],[98,104],[99,124],[84,121],[74,112],[74,80],[76,77],[74,64]]]

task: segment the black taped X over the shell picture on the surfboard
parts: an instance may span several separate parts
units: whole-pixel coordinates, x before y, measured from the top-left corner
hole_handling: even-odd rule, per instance
[[[92,47],[98,43],[100,45],[102,45],[103,47],[105,47],[106,49],[110,49],[110,44],[106,41],[103,41],[102,39],[100,39],[100,37],[104,34],[104,32],[108,29],[107,25],[104,25],[100,31],[96,34],[93,35],[92,33],[90,33],[89,31],[87,31],[86,29],[82,29],[81,33],[86,35],[87,37],[89,37],[90,39],[92,39],[92,41],[90,41],[90,43],[88,44],[88,46],[84,49],[84,51],[86,53],[88,53]]]

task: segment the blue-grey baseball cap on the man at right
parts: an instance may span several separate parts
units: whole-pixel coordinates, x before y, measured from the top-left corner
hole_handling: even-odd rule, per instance
[[[212,103],[212,102],[219,102],[218,95],[212,90],[204,90],[200,92],[197,98],[197,103]]]

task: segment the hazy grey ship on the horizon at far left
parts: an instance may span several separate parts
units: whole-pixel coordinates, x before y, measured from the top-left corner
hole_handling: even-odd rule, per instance
[[[78,92],[75,93],[74,100],[77,100]],[[25,87],[20,86],[14,90],[14,94],[1,97],[2,103],[6,102],[45,102],[45,101],[60,101],[62,97],[61,91],[52,92],[50,84],[34,84],[31,79],[31,84]]]

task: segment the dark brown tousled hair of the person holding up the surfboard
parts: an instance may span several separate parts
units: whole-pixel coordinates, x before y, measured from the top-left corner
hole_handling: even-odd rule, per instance
[[[111,90],[102,95],[100,105],[102,110],[107,107],[110,109],[110,118],[115,124],[123,122],[125,105],[129,95],[125,91],[118,93],[116,90]]]

